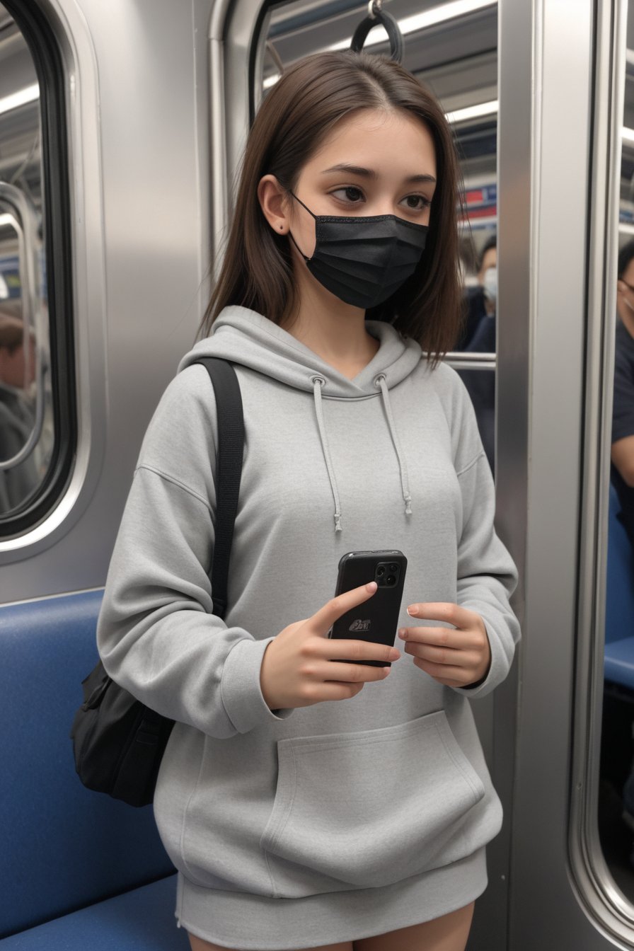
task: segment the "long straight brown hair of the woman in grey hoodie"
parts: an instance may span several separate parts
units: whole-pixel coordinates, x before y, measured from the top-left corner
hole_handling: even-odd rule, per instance
[[[368,53],[323,52],[284,72],[259,108],[244,152],[240,187],[221,274],[201,336],[228,304],[241,304],[276,323],[294,313],[288,237],[276,234],[259,206],[263,175],[293,189],[302,167],[343,116],[361,109],[405,109],[432,134],[437,185],[425,252],[411,278],[367,312],[418,340],[432,362],[454,344],[461,325],[458,275],[458,164],[451,128],[438,103],[406,69]]]

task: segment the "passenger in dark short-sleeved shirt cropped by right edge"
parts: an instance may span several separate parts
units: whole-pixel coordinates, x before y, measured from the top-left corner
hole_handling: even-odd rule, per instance
[[[634,241],[619,253],[611,479],[634,546]]]

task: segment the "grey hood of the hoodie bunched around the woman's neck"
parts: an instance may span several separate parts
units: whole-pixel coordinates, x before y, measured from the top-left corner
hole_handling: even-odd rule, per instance
[[[272,320],[247,307],[225,307],[211,335],[182,359],[179,372],[201,357],[219,357],[308,393],[314,391],[313,378],[318,376],[323,379],[324,398],[376,396],[376,379],[384,378],[392,389],[413,372],[421,351],[413,340],[403,340],[389,323],[367,320],[366,325],[379,341],[379,349],[358,376],[348,379]]]

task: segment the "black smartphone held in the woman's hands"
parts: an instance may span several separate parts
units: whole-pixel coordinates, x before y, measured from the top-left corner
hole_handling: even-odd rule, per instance
[[[339,640],[374,641],[394,646],[400,612],[407,558],[402,552],[348,552],[339,561],[335,594],[343,594],[375,581],[373,596],[336,620],[329,637]],[[346,663],[368,667],[390,667],[387,661],[364,660]]]

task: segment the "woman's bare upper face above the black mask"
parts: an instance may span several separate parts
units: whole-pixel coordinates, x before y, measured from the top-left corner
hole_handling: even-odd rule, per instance
[[[429,224],[436,157],[426,126],[404,111],[362,109],[336,124],[304,165],[295,194],[314,215],[396,215]],[[289,226],[303,254],[315,221],[290,199]]]

